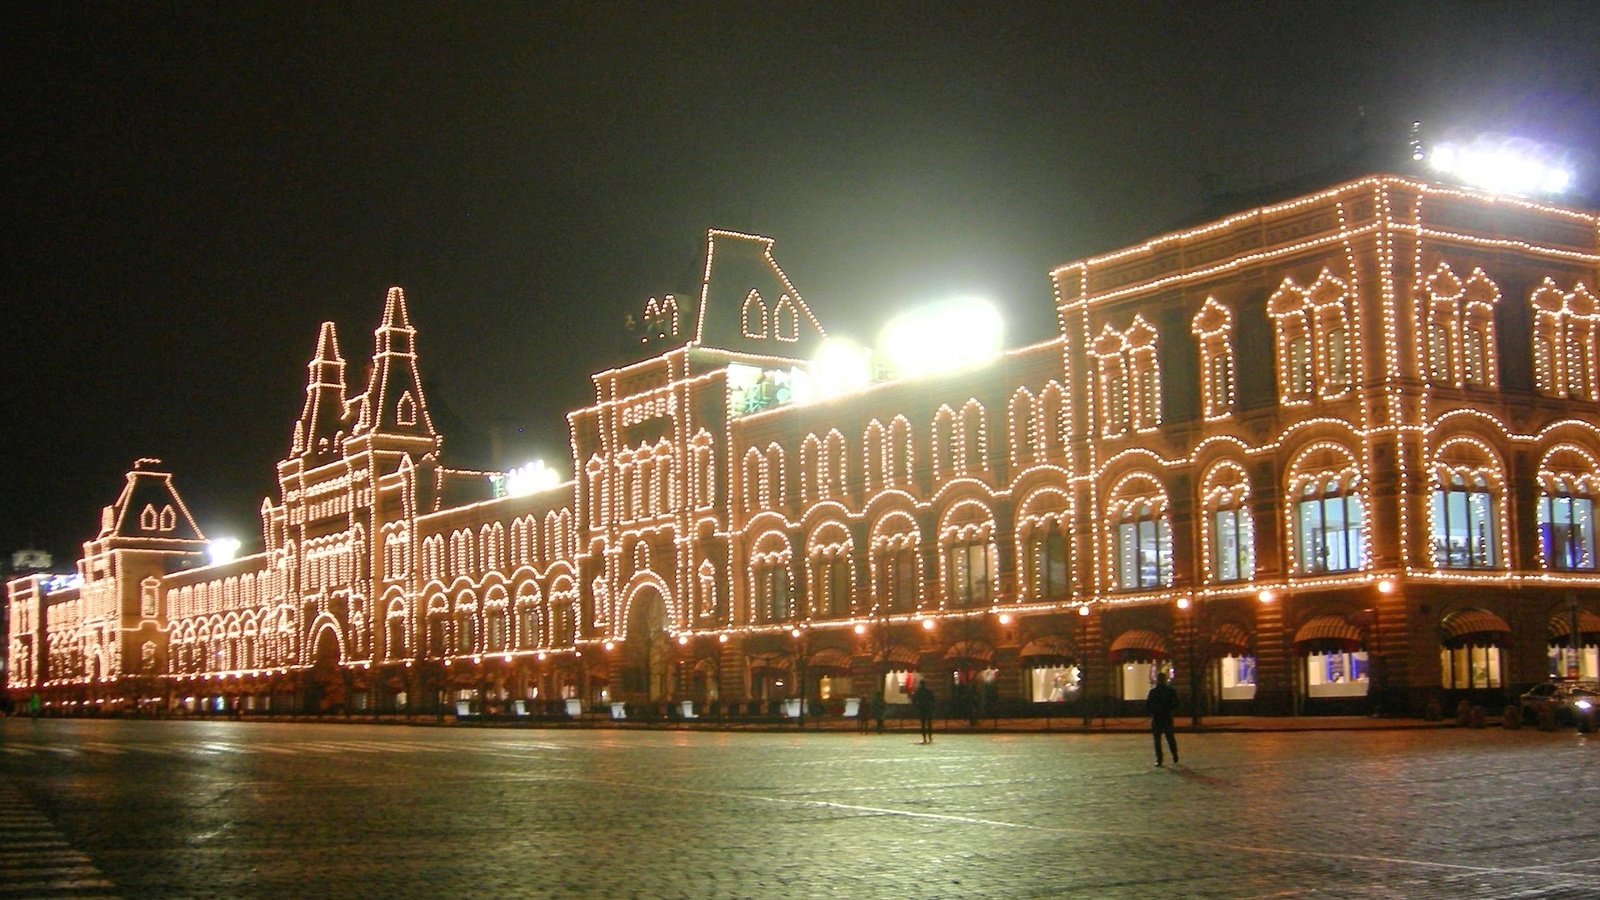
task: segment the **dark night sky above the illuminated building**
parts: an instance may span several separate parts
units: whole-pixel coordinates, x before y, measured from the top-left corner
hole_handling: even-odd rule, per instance
[[[35,2],[0,66],[0,549],[58,562],[138,456],[248,546],[317,323],[358,381],[389,285],[446,460],[565,460],[707,227],[774,237],[832,333],[978,293],[1021,344],[1051,267],[1328,165],[1362,109],[1600,149],[1592,3]]]

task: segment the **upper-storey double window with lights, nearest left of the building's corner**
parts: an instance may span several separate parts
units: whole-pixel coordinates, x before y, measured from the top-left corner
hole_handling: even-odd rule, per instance
[[[1352,383],[1349,285],[1326,269],[1310,287],[1283,279],[1267,301],[1278,360],[1278,397],[1283,405],[1306,405],[1314,397],[1344,397]]]

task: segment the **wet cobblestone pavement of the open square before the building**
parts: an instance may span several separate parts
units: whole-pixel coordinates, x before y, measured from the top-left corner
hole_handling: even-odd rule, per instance
[[[0,897],[1595,897],[1600,738],[0,721]]]

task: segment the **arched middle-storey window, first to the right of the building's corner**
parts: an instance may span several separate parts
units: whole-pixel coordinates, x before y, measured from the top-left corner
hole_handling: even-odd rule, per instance
[[[1504,544],[1506,469],[1475,437],[1453,437],[1434,453],[1430,508],[1434,565],[1499,569]]]

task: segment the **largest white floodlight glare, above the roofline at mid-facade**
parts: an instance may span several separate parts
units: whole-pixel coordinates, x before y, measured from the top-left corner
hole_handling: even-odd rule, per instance
[[[878,346],[898,378],[954,372],[1000,352],[1005,325],[982,299],[954,299],[894,317]]]

